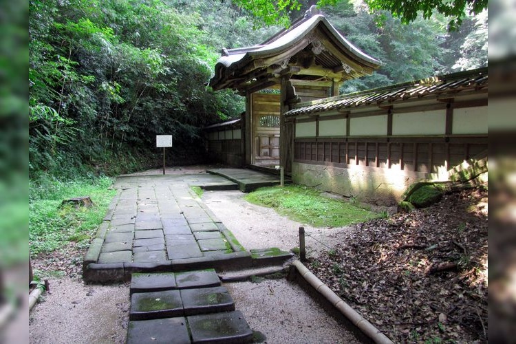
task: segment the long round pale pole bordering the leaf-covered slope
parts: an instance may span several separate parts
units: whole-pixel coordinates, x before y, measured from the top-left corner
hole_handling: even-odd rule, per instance
[[[341,316],[344,316],[347,321],[350,321],[352,325],[354,325],[358,330],[361,331],[361,334],[367,336],[370,340],[375,343],[381,344],[392,344],[393,342],[385,336],[380,330],[378,330],[372,323],[369,323],[366,319],[364,319],[361,314],[358,314],[356,310],[351,308],[350,305],[345,303],[343,299],[338,297],[337,294],[332,292],[330,288],[328,288],[320,279],[318,279],[306,266],[304,266],[301,261],[294,260],[292,261],[292,266],[290,267],[290,279],[296,279],[296,277],[303,279],[304,282],[308,283],[309,287],[312,288],[312,291],[316,292],[316,296],[322,297],[330,303],[334,310],[337,310]],[[292,276],[297,275],[297,276]]]

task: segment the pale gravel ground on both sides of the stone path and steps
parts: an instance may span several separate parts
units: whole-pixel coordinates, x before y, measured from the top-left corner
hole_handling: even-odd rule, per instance
[[[172,173],[202,173],[202,168]],[[151,173],[148,171],[147,173]],[[154,172],[155,173],[155,172]],[[169,170],[167,169],[167,174]],[[203,200],[235,234],[245,248],[299,246],[302,224],[275,211],[248,204],[239,191],[205,192]],[[308,255],[325,246],[347,228],[305,226]],[[259,283],[226,283],[237,310],[244,312],[253,330],[266,343],[354,343],[356,338],[338,325],[297,284],[286,279]],[[125,343],[129,318],[129,286],[85,285],[71,278],[50,280],[50,292],[30,312],[30,343]]]

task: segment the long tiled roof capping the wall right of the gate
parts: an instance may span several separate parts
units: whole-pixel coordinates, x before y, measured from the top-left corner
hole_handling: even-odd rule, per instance
[[[434,76],[424,80],[414,80],[378,89],[367,89],[353,94],[344,94],[310,103],[300,103],[285,116],[300,116],[322,111],[340,110],[367,105],[390,105],[409,98],[438,96],[453,92],[457,94],[468,89],[486,90],[488,87],[487,68],[466,72]]]

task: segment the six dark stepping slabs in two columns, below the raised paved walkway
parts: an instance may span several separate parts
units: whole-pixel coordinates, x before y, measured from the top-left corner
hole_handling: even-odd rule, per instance
[[[133,274],[127,343],[248,343],[244,314],[213,269]]]

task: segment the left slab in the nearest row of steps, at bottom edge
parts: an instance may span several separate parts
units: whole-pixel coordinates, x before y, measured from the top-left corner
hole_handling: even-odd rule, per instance
[[[186,319],[176,318],[129,321],[127,344],[187,344],[191,343]]]

